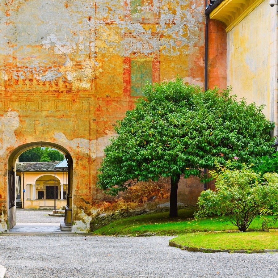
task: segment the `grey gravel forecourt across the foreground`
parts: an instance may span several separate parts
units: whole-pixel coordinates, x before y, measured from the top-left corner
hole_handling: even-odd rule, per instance
[[[188,252],[169,237],[0,234],[6,277],[278,277],[278,254]]]

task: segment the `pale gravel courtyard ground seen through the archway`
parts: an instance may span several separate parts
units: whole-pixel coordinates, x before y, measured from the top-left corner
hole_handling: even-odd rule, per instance
[[[59,223],[62,217],[49,216],[53,210],[17,209],[15,212],[16,223]],[[1,263],[0,263],[1,264]]]

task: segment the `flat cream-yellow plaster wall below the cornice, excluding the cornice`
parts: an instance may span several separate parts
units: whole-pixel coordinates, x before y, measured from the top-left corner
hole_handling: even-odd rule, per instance
[[[263,1],[227,33],[227,82],[238,100],[265,104],[265,115],[276,121],[277,10],[268,3]]]

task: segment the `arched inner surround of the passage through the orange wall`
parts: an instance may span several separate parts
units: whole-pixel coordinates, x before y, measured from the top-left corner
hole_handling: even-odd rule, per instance
[[[36,147],[50,147],[61,151],[66,158],[68,165],[68,175],[67,175],[67,192],[65,200],[65,226],[71,226],[72,222],[72,184],[73,184],[73,160],[72,157],[65,147],[51,143],[51,142],[32,142],[24,145],[20,145],[15,150],[13,150],[8,158],[7,162],[7,200],[8,200],[8,229],[10,230],[16,224],[16,207],[15,207],[15,179],[16,179],[16,160],[20,154],[26,150],[36,148]],[[23,192],[24,192],[24,181],[23,182]],[[25,196],[26,197],[26,196]],[[24,196],[23,196],[24,199]]]

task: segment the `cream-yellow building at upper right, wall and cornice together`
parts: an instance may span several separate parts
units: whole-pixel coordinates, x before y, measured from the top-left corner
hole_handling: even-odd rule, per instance
[[[277,136],[277,5],[271,7],[268,0],[218,3],[209,17],[225,24],[227,86],[238,100],[264,104],[264,114],[276,122]]]

